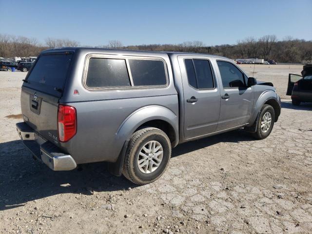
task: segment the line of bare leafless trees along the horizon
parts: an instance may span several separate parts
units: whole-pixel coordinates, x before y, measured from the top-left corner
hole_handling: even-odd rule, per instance
[[[42,45],[34,38],[0,34],[0,57],[37,56],[48,48],[80,46],[71,39],[45,39]],[[92,46],[88,46],[92,47]],[[230,59],[273,59],[277,62],[301,63],[312,60],[312,40],[294,39],[290,36],[278,40],[275,35],[266,35],[259,39],[248,37],[236,44],[208,46],[201,41],[187,41],[180,44],[148,44],[124,46],[119,40],[111,40],[107,45],[96,48],[130,49],[145,51],[192,52],[224,56]]]

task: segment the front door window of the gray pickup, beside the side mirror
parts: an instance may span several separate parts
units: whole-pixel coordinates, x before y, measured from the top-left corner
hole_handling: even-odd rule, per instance
[[[245,86],[243,73],[232,63],[217,61],[223,88]]]

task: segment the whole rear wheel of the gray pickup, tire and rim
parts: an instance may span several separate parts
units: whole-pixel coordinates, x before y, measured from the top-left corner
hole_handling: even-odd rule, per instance
[[[161,147],[159,148],[159,146]],[[154,154],[151,151],[148,154],[148,151],[146,152],[144,149],[148,151],[154,149],[156,153]],[[138,130],[130,138],[122,174],[137,185],[154,182],[166,170],[170,157],[171,143],[169,137],[163,131],[152,127]],[[142,167],[143,164],[145,166]]]

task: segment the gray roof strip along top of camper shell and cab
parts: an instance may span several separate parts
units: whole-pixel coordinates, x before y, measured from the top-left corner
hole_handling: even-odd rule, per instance
[[[58,51],[90,51],[90,52],[113,52],[114,54],[124,53],[124,52],[137,52],[138,54],[161,54],[161,55],[194,55],[194,56],[210,56],[210,57],[217,57],[222,59],[229,59],[226,57],[218,56],[218,55],[209,55],[209,54],[200,54],[200,53],[187,53],[187,52],[174,52],[174,51],[146,51],[146,50],[126,50],[126,49],[105,49],[105,48],[93,48],[93,47],[59,47],[53,49],[47,49],[42,51],[43,53],[51,53],[51,52],[58,52]]]

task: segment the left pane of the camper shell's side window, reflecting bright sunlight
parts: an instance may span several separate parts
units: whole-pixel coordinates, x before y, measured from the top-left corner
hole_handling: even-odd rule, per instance
[[[130,86],[126,60],[91,58],[86,85],[90,88]]]

